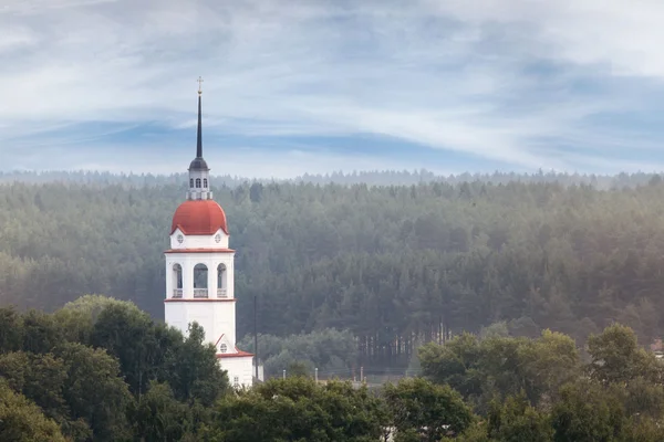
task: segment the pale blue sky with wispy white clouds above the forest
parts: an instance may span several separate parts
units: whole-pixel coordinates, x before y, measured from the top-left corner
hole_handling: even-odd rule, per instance
[[[664,170],[661,0],[0,0],[0,170]]]

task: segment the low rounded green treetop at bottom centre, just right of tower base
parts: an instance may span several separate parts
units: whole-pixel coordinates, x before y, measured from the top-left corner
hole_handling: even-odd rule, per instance
[[[293,377],[226,396],[216,407],[212,441],[377,441],[386,423],[378,398],[347,382],[317,386]]]

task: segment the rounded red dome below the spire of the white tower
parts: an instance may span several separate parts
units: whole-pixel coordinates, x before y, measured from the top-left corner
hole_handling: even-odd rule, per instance
[[[212,200],[185,201],[175,211],[170,233],[179,228],[184,234],[211,235],[219,229],[228,234],[226,213],[221,206]]]

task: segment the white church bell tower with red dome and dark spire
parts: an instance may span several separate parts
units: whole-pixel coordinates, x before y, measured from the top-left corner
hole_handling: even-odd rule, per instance
[[[200,82],[196,158],[189,165],[189,190],[170,225],[166,255],[166,324],[187,333],[196,322],[232,386],[252,385],[253,355],[236,347],[235,251],[229,249],[224,209],[212,200],[207,162],[203,159]]]

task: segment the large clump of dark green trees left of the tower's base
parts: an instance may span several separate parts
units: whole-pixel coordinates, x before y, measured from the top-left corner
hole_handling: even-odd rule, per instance
[[[37,404],[71,441],[195,441],[210,422],[204,407],[227,391],[200,327],[184,338],[131,303],[85,296],[54,314],[6,308],[0,330],[0,387]]]

